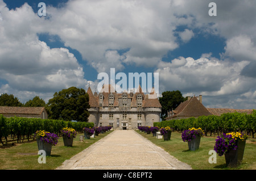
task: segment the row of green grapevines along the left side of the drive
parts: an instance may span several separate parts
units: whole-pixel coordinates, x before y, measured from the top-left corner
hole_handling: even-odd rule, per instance
[[[86,122],[72,122],[64,120],[52,120],[52,119],[40,119],[40,118],[27,118],[27,117],[4,117],[0,115],[0,142],[2,137],[5,137],[7,141],[8,136],[17,136],[18,142],[21,137],[26,136],[27,139],[38,130],[44,130],[47,132],[60,135],[60,130],[65,127],[75,129],[77,132],[83,132],[82,128],[93,127],[93,123]]]

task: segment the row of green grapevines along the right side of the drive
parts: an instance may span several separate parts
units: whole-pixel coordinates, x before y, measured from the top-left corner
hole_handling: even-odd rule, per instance
[[[221,116],[200,116],[200,117],[189,117],[188,119],[177,119],[177,120],[167,120],[161,122],[155,122],[154,127],[171,127],[177,132],[182,132],[189,128],[202,128],[205,134],[216,133],[220,135],[222,132],[247,132],[247,134],[252,133],[254,138],[254,133],[256,131],[256,110],[253,113],[223,113]]]

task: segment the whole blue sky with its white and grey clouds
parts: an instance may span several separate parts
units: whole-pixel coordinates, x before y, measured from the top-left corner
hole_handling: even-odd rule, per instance
[[[0,94],[47,103],[71,86],[97,91],[97,75],[114,68],[127,77],[159,73],[159,96],[179,90],[203,95],[205,107],[255,109],[255,7],[254,0],[0,0]]]

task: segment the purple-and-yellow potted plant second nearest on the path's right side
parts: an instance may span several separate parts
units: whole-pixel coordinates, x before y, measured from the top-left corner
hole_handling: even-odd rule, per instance
[[[204,136],[204,131],[201,128],[189,128],[181,134],[182,140],[188,142],[188,149],[192,151],[199,149],[202,136]]]

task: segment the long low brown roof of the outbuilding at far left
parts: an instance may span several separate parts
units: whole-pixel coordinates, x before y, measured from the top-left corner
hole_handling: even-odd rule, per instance
[[[44,110],[44,107],[11,107],[0,106],[0,114],[28,114],[28,115],[40,115]]]

